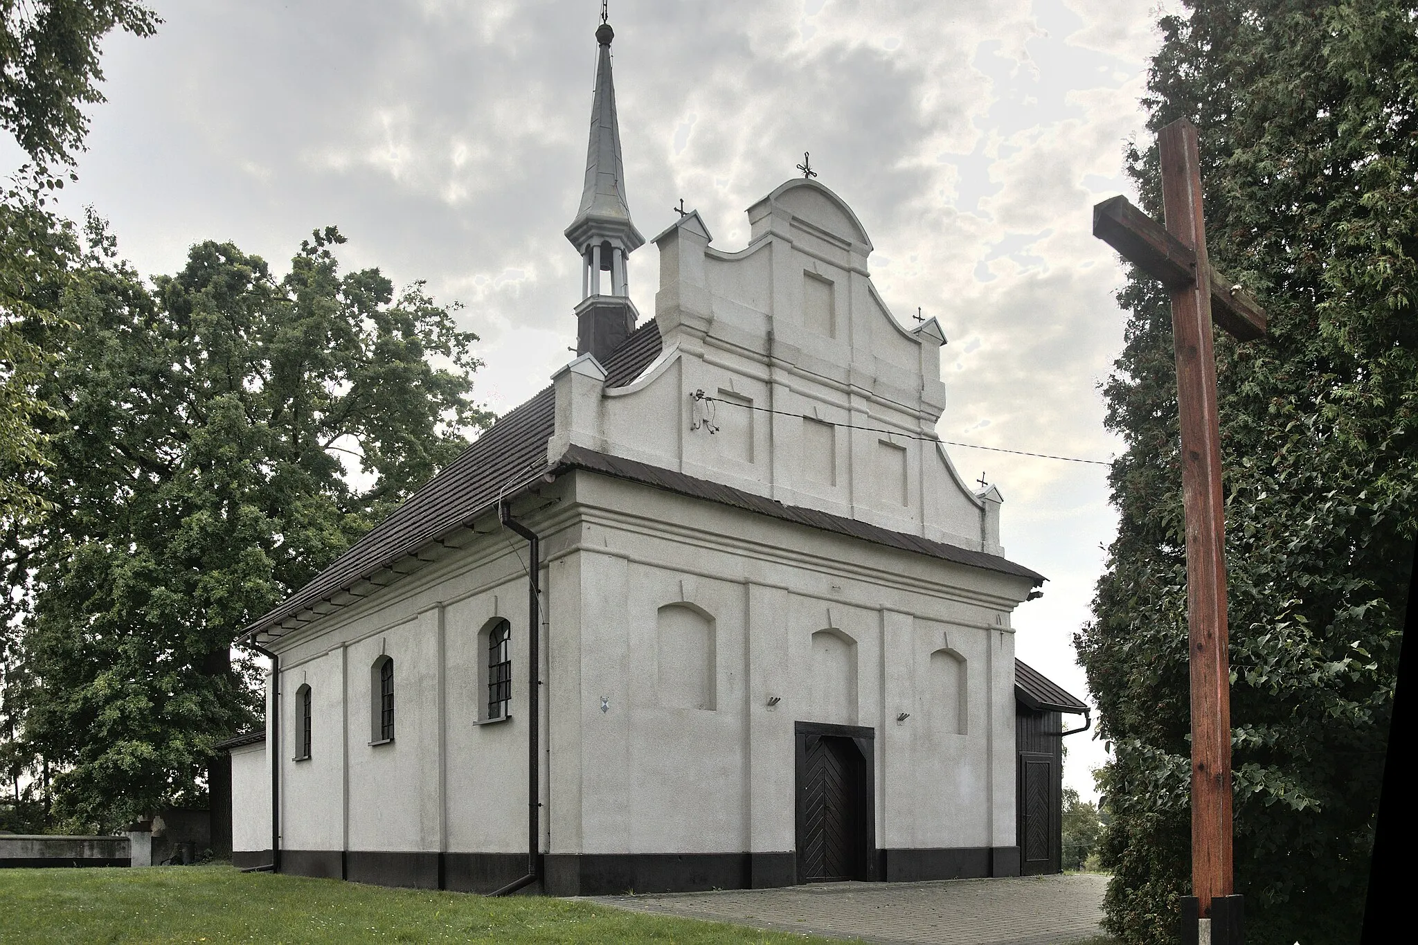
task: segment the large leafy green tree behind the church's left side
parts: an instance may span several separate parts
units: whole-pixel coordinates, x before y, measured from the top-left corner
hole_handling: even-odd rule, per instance
[[[421,283],[396,298],[377,269],[342,275],[340,242],[316,232],[279,281],[204,242],[149,288],[89,220],[40,388],[65,418],[41,424],[52,511],[10,547],[31,605],[24,740],[74,826],[201,803],[214,745],[259,713],[241,628],[491,419],[468,398],[476,337]]]

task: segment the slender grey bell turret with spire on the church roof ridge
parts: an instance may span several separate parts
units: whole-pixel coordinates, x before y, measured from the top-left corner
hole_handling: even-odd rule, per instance
[[[635,306],[625,285],[625,256],[645,245],[625,204],[625,170],[615,120],[615,84],[611,79],[611,40],[605,21],[596,30],[600,58],[596,64],[596,98],[591,102],[591,140],[586,149],[586,186],[576,220],[566,238],[581,254],[581,303],[576,306],[576,353],[605,358],[635,327]]]

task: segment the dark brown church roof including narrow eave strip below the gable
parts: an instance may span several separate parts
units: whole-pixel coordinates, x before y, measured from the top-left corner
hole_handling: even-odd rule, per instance
[[[631,333],[625,343],[607,358],[604,364],[605,385],[624,387],[634,381],[659,357],[661,349],[659,326],[651,319]],[[553,434],[554,409],[556,392],[547,387],[532,400],[509,411],[457,459],[430,479],[423,489],[404,500],[393,514],[374,526],[369,534],[320,571],[313,581],[252,622],[247,628],[244,639],[267,633],[302,611],[308,611],[322,601],[329,601],[379,571],[417,554],[421,548],[459,527],[471,526],[476,517],[493,510],[502,494],[512,493],[536,480],[547,472],[546,441]],[[559,469],[586,469],[617,476],[811,528],[834,531],[988,571],[1012,574],[1029,578],[1034,584],[1044,582],[1042,575],[998,555],[891,531],[814,509],[784,506],[771,499],[706,479],[695,479],[669,469],[607,456],[588,449],[573,446]]]

